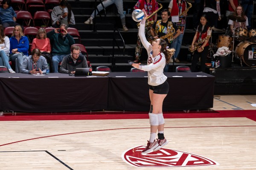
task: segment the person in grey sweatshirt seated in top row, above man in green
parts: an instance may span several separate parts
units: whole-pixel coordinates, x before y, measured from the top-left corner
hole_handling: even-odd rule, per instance
[[[62,0],[60,2],[59,6],[55,6],[52,9],[52,27],[58,28],[61,24],[65,24],[68,26],[68,21],[67,21],[67,15],[68,15],[68,9],[67,9],[67,1]]]

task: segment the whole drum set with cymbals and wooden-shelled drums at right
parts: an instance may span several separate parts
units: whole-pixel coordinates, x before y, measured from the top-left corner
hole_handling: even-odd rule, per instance
[[[242,17],[235,15],[230,15],[228,17],[230,20],[235,22],[245,22],[246,20]],[[212,28],[212,30],[222,31],[217,28]],[[218,35],[217,48],[227,47],[232,52],[232,62],[234,62],[234,57],[250,67],[256,67],[256,30],[251,29],[249,32],[246,28],[233,28],[233,34]],[[236,48],[235,48],[236,46]],[[212,48],[210,48],[210,53]]]

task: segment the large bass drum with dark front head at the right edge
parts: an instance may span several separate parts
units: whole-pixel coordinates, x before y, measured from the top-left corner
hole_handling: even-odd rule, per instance
[[[240,42],[236,46],[236,54],[244,64],[256,67],[256,43],[250,41]]]

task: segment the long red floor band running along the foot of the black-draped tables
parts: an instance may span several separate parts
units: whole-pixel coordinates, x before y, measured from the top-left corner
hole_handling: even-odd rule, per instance
[[[110,113],[110,114],[107,114]],[[81,113],[56,113],[58,115],[33,115],[33,113],[26,113],[26,115],[12,116],[11,114],[4,114],[0,116],[0,121],[37,121],[37,120],[96,120],[96,119],[148,119],[148,112],[97,112],[96,114],[81,114]],[[45,113],[47,114],[47,113]],[[63,115],[64,114],[64,115]],[[247,117],[256,121],[256,110],[232,110],[232,111],[204,111],[203,113],[184,113],[184,112],[163,112],[164,118],[223,118],[223,117]]]

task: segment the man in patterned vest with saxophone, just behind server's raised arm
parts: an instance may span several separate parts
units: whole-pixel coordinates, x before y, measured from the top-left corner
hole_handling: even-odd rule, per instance
[[[151,31],[151,34],[152,34],[154,40],[156,40],[158,38],[166,36],[167,34],[172,34],[172,31],[173,31],[173,28],[174,28],[176,34],[174,36],[172,34],[172,36],[167,37],[167,38],[164,39],[168,43],[167,46],[171,47],[173,40],[176,39],[180,35],[180,30],[177,28],[175,23],[168,20],[169,17],[170,17],[170,12],[168,11],[168,9],[164,9],[162,11],[161,17],[162,17],[162,20],[157,20],[156,22],[154,22],[150,31]],[[170,59],[169,62],[173,62],[173,60]],[[168,69],[169,69],[169,64],[166,64],[163,71],[168,72]]]

